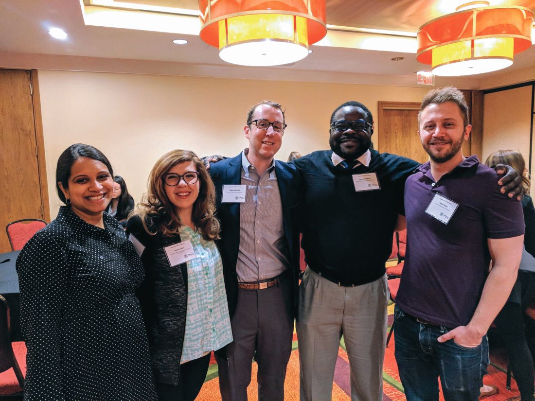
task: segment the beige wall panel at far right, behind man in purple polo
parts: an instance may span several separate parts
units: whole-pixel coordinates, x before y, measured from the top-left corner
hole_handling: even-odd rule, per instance
[[[530,157],[531,86],[493,92],[484,96],[483,162],[500,149],[516,149],[526,166]],[[535,171],[532,165],[531,172]],[[531,187],[531,196],[535,194]]]

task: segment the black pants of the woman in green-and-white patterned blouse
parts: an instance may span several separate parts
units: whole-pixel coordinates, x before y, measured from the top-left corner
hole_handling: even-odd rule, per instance
[[[209,364],[210,354],[180,365],[180,375],[177,385],[156,383],[158,400],[193,401],[199,394],[199,391],[201,391]]]

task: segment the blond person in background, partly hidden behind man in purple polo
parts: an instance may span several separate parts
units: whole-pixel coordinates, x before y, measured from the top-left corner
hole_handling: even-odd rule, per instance
[[[496,332],[505,341],[511,372],[515,376],[522,401],[533,401],[533,357],[535,356],[535,332],[533,321],[524,313],[526,307],[535,301],[535,209],[530,193],[530,178],[522,153],[517,150],[499,150],[492,153],[485,164],[508,164],[522,176],[522,209],[526,234],[524,250],[511,295],[507,299],[494,323]],[[526,330],[526,329],[529,329]],[[482,396],[496,394],[494,385],[484,385]]]

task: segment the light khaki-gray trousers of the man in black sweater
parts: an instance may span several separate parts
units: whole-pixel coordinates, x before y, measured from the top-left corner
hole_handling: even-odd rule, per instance
[[[301,401],[331,400],[342,335],[351,401],[383,399],[388,299],[386,275],[361,286],[339,287],[307,267],[296,322]]]

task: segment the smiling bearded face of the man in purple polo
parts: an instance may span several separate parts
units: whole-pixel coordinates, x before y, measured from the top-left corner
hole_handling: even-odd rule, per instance
[[[471,125],[464,127],[461,109],[454,102],[431,103],[420,114],[418,134],[425,151],[435,163],[454,160],[460,163],[462,145],[470,136]]]

